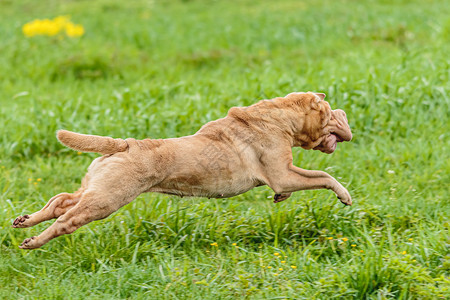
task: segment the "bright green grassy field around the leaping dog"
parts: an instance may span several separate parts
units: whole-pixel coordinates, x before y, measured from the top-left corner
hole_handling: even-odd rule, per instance
[[[26,37],[70,15],[80,38]],[[448,299],[447,1],[0,1],[0,298]],[[351,143],[294,149],[354,198],[259,187],[145,194],[42,249],[14,218],[78,188],[95,154],[57,129],[193,134],[232,106],[327,94]]]

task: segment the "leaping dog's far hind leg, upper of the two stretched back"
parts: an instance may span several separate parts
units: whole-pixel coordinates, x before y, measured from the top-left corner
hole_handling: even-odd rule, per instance
[[[83,179],[81,188],[75,193],[61,193],[51,198],[47,204],[40,210],[31,215],[23,215],[17,217],[12,227],[26,228],[31,227],[41,222],[58,218],[65,214],[81,199],[85,188],[87,186],[87,176]]]

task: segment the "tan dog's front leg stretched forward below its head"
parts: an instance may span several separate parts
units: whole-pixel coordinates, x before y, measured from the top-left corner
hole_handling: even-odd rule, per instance
[[[304,170],[290,165],[287,170],[274,172],[273,174],[268,185],[276,194],[283,195],[301,190],[329,189],[336,193],[342,203],[352,205],[352,198],[347,189],[326,172]]]

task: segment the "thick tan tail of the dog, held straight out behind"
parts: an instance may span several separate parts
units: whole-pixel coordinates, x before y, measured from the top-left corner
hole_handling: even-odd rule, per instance
[[[122,139],[107,136],[80,134],[67,130],[58,130],[58,140],[65,146],[83,152],[113,154],[128,149],[128,144]]]

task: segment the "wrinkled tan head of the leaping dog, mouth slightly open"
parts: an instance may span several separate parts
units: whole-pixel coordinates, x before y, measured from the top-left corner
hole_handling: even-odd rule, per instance
[[[331,110],[322,93],[291,93],[290,101],[297,103],[300,113],[294,146],[333,153],[337,143],[350,141],[352,132],[342,109]]]

